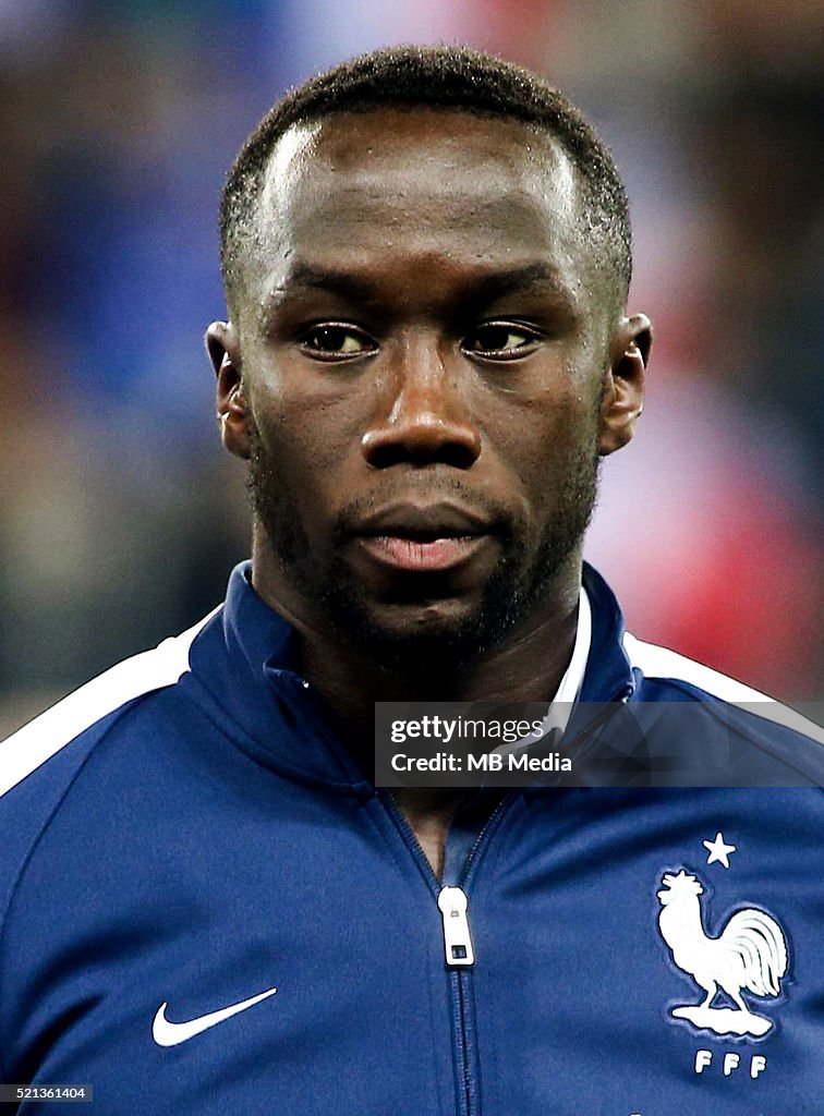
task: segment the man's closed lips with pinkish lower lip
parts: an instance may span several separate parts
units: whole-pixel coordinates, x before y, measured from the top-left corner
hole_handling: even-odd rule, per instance
[[[441,573],[468,562],[490,540],[491,525],[451,503],[394,504],[358,522],[358,547],[384,567]]]

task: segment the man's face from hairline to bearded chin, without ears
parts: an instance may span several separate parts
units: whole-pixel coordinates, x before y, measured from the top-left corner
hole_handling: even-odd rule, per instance
[[[471,655],[577,561],[614,327],[578,205],[566,157],[510,122],[380,110],[280,141],[231,448],[256,584],[299,626]]]

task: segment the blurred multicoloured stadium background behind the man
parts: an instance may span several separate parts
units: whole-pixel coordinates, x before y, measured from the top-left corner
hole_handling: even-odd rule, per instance
[[[394,42],[526,64],[613,147],[657,345],[588,557],[639,636],[824,698],[823,31],[816,0],[0,0],[0,737],[247,555],[219,192],[289,85]]]

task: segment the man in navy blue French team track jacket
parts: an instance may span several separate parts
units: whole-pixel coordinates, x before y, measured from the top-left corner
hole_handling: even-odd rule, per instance
[[[821,745],[582,587],[651,338],[604,146],[516,67],[379,52],[272,109],[221,232],[252,561],[3,745],[3,1079],[106,1114],[815,1110]],[[375,787],[375,702],[553,696],[568,756],[630,724],[689,770]],[[784,789],[717,789],[732,756]]]

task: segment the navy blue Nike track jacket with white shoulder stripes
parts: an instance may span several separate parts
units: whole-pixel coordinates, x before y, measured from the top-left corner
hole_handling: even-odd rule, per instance
[[[94,1089],[20,1113],[824,1114],[812,728],[625,635],[587,569],[582,702],[662,738],[690,703],[698,768],[732,741],[801,786],[507,792],[442,912],[247,573],[0,745],[0,1080]]]

